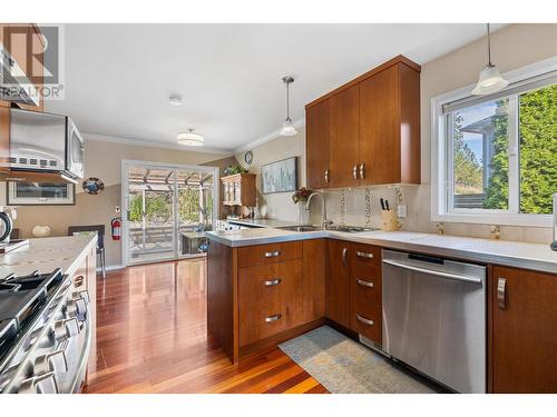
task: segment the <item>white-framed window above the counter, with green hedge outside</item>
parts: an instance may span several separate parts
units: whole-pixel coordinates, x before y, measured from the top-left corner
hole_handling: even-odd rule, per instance
[[[557,73],[437,105],[433,218],[549,225],[557,192]]]

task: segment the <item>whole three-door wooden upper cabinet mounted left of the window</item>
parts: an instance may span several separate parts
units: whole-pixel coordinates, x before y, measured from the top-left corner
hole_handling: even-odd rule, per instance
[[[310,188],[420,183],[417,63],[399,56],[305,110]]]

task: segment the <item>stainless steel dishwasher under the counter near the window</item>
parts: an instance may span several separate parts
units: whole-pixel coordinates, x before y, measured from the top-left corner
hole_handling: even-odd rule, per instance
[[[486,393],[486,268],[383,250],[383,349],[460,393]]]

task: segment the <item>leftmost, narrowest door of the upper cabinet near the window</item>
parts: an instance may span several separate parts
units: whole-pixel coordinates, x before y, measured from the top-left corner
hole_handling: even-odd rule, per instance
[[[305,110],[307,188],[329,187],[329,100]]]

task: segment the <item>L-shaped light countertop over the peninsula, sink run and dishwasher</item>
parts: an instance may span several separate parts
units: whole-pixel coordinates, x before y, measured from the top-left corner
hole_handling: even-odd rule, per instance
[[[384,248],[419,251],[437,256],[467,259],[485,264],[557,274],[557,251],[549,244],[526,244],[509,240],[490,240],[448,235],[420,234],[412,231],[289,231],[272,228],[223,230],[207,232],[209,239],[229,247],[294,241],[304,239],[333,238]]]

